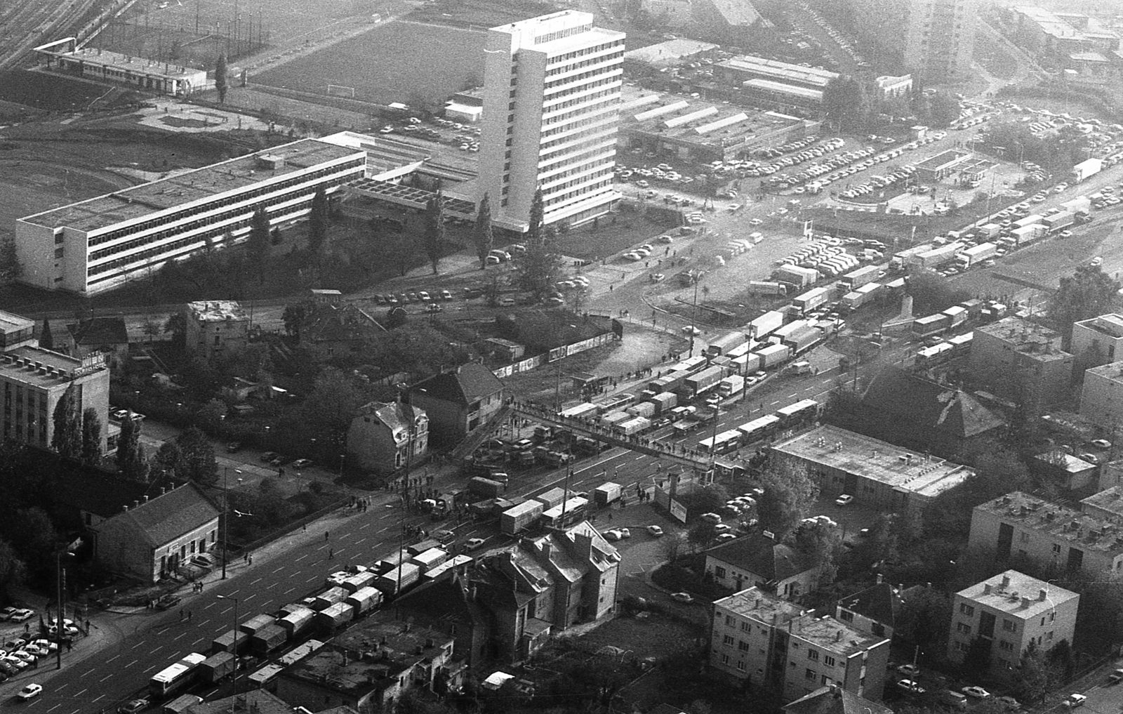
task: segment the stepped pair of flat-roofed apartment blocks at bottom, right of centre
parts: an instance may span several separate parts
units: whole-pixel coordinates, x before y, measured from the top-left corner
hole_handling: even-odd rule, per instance
[[[889,640],[861,632],[829,615],[804,613],[758,587],[713,604],[710,665],[749,685],[798,699],[820,687],[879,701]]]

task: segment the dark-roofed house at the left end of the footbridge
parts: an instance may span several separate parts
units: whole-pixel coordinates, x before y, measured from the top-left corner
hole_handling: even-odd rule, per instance
[[[503,383],[478,363],[422,379],[408,394],[429,414],[432,441],[440,445],[460,441],[503,408]]]

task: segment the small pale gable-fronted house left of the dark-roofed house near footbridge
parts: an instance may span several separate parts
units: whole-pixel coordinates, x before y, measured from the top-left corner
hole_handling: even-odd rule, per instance
[[[347,454],[359,468],[390,474],[429,452],[429,417],[399,402],[371,402],[347,430]]]

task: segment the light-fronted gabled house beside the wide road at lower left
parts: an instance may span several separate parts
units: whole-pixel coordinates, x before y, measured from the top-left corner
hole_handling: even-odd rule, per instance
[[[194,484],[134,501],[100,524],[94,557],[111,573],[156,583],[216,547],[218,516]]]

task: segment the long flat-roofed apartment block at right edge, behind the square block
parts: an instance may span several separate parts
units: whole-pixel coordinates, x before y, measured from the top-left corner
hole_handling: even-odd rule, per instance
[[[1076,511],[1015,491],[975,506],[968,546],[998,564],[1051,573],[1123,574],[1123,528],[1095,509]]]

